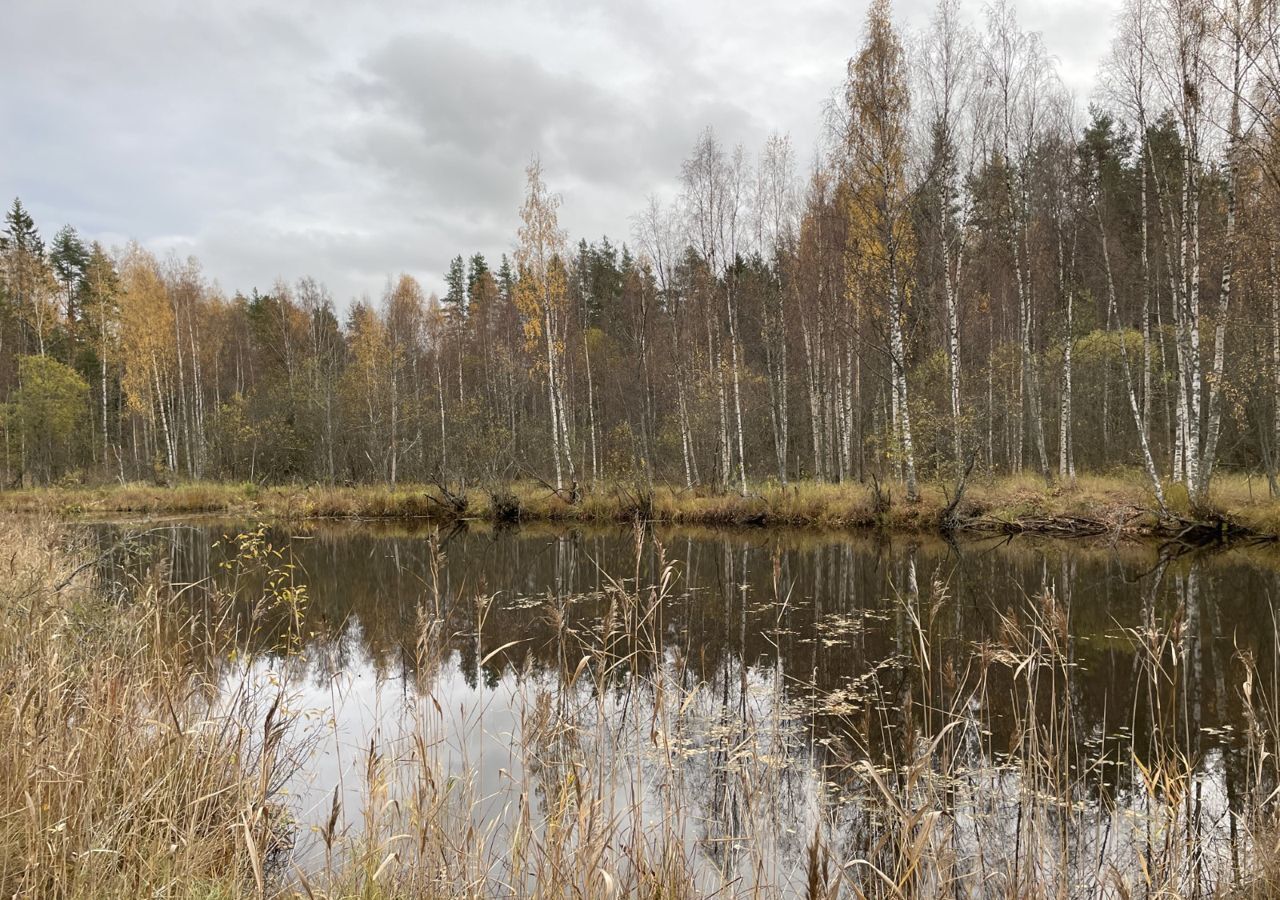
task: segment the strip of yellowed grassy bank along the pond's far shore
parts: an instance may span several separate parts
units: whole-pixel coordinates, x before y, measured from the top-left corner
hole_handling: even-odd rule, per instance
[[[1280,498],[1265,478],[1220,475],[1208,503],[1193,510],[1180,486],[1161,515],[1140,472],[1082,475],[1070,483],[1036,475],[927,483],[915,503],[899,481],[753,484],[737,492],[602,484],[577,497],[536,481],[493,488],[454,485],[113,484],[0,492],[0,511],[59,517],[223,513],[270,518],[436,518],[492,522],[630,522],[1074,535],[1280,536]]]

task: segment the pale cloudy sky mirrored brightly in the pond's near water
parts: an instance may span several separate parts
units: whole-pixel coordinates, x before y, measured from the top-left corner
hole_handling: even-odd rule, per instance
[[[362,647],[351,640],[358,638],[358,629],[357,621],[348,623],[348,647]],[[575,758],[588,767],[577,777],[600,791],[614,845],[636,837],[637,821],[631,817],[636,800],[640,839],[678,835],[705,891],[717,890],[726,878],[736,878],[739,886],[759,881],[799,890],[819,816],[837,858],[841,848],[856,858],[859,848],[878,845],[893,821],[865,775],[832,776],[823,786],[820,754],[813,753],[805,735],[809,722],[799,708],[803,702],[788,699],[783,672],[774,667],[744,671],[727,662],[710,682],[682,694],[668,657],[662,677],[668,700],[659,709],[653,682],[632,691],[607,689],[596,702],[590,676],[563,691],[547,670],[516,673],[508,668],[498,677],[477,680],[468,677],[457,652],[424,682],[428,693],[420,695],[411,677],[388,677],[385,668],[379,675],[362,652],[329,671],[326,654],[315,649],[300,666],[260,658],[228,681],[247,677],[287,687],[289,711],[300,721],[298,736],[305,735],[310,748],[288,783],[303,826],[294,849],[294,862],[302,868],[324,865],[320,830],[335,789],[339,859],[347,841],[361,835],[366,814],[374,812],[365,805],[371,749],[385,763],[387,777],[398,783],[388,796],[410,794],[416,737],[435,772],[456,780],[477,842],[495,860],[506,862],[500,849],[517,824],[522,786],[540,798],[534,812],[545,812],[545,794],[539,792],[544,785],[529,767],[530,759],[545,760],[522,741],[522,718],[535,714],[540,694],[564,704],[566,721],[576,726]],[[980,716],[978,705],[969,708],[955,778],[946,782],[951,790],[947,814],[941,814],[940,794],[920,790],[906,799],[908,808],[911,801],[920,804],[918,812],[936,807],[925,819],[929,846],[955,854],[961,868],[1007,872],[1015,849],[1021,848],[1025,859],[1019,868],[1030,883],[1074,885],[1078,890],[1069,896],[1096,896],[1106,892],[1112,865],[1137,876],[1137,860],[1149,836],[1161,840],[1162,830],[1175,821],[1178,830],[1188,827],[1140,790],[1121,790],[1110,808],[1098,804],[1083,783],[1071,790],[1069,807],[1029,792],[1019,768],[993,762],[983,744]],[[937,764],[940,759],[931,763]],[[1184,860],[1188,873],[1196,865],[1206,872],[1229,871],[1231,835],[1240,824],[1230,818],[1221,750],[1208,751],[1189,783],[1189,798],[1201,841],[1198,858]],[[403,828],[403,822],[384,819],[384,827],[389,833]],[[1042,842],[1042,853],[1027,851],[1029,833]],[[1238,846],[1235,853],[1242,850]],[[856,880],[858,867],[850,877]]]

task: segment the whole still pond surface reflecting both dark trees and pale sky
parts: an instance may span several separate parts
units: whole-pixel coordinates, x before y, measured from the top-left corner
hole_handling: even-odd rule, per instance
[[[99,539],[143,534],[116,574],[163,581],[198,617],[218,586],[261,594],[265,576],[229,562],[250,527]],[[588,711],[640,828],[669,827],[678,772],[678,832],[710,886],[799,885],[819,822],[838,856],[886,853],[888,790],[938,807],[963,865],[1030,854],[1078,896],[1149,858],[1176,818],[1212,888],[1239,877],[1243,798],[1271,786],[1247,703],[1276,675],[1270,548],[369,524],[265,540],[300,602],[202,664],[228,690],[288,685],[308,748],[288,785],[300,867],[333,853],[332,817],[348,837],[370,827],[371,753],[396,759],[428,718],[433,759],[468,780],[472,824],[498,841],[531,777],[539,696]],[[1185,783],[1152,786],[1171,758]],[[913,764],[946,787],[904,787]],[[1162,801],[1176,816],[1153,826]],[[1052,851],[1028,851],[1032,819]]]

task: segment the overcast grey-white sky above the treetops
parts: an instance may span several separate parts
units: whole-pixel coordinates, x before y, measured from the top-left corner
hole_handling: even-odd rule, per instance
[[[934,0],[896,0],[923,29]],[[812,160],[868,0],[0,0],[0,204],[196,255],[228,294],[443,292],[515,246],[536,154],[576,241],[630,241],[710,125]],[[1084,109],[1119,0],[1019,0]],[[980,0],[966,4],[974,24]]]

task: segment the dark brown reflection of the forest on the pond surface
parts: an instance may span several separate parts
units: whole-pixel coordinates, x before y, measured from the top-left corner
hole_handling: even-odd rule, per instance
[[[270,655],[289,622],[283,612],[253,609],[262,585],[252,574],[229,579],[219,568],[227,548],[214,542],[225,530],[174,526],[145,554],[133,550],[109,565],[156,584],[196,585],[170,590],[177,609],[204,627],[229,625],[251,653]],[[100,534],[105,547],[118,530]],[[1239,681],[1236,648],[1258,661],[1261,682],[1271,677],[1266,598],[1275,575],[1239,559],[1152,565],[1146,548],[1036,543],[957,554],[929,540],[788,543],[760,533],[640,535],[637,543],[631,531],[588,530],[463,531],[447,542],[442,561],[435,539],[422,533],[329,526],[294,538],[271,535],[288,545],[308,585],[303,652],[316,679],[367,663],[380,679],[417,684],[424,620],[472,687],[493,690],[529,671],[554,693],[586,658],[579,694],[559,695],[562,712],[585,716],[590,707],[595,717],[608,709],[627,718],[612,728],[616,745],[608,750],[620,764],[628,751],[652,753],[641,721],[662,704],[655,685],[678,696],[701,686],[698,702],[663,726],[690,755],[676,773],[653,759],[645,772],[663,783],[675,780],[682,796],[705,798],[689,821],[726,869],[758,853],[740,839],[760,816],[762,780],[786,794],[791,818],[782,821],[829,816],[832,833],[840,833],[833,845],[872,846],[881,813],[858,803],[831,807],[822,783],[838,782],[846,796],[874,795],[855,766],[870,759],[896,771],[905,790],[902,762],[956,717],[964,725],[948,736],[947,753],[968,775],[940,801],[957,853],[975,851],[977,821],[1019,809],[1023,786],[1007,766],[1027,754],[1029,721],[1062,722],[1055,766],[1089,773],[1070,782],[1080,810],[1039,810],[1050,832],[1075,835],[1096,824],[1089,817],[1103,816],[1106,804],[1140,807],[1130,760],[1149,767],[1172,746],[1196,767],[1181,821],[1189,836],[1208,836],[1217,827],[1206,814],[1216,801],[1210,794],[1235,804],[1244,778],[1245,728],[1231,689]],[[631,598],[652,591],[672,556],[678,563],[671,589],[645,618]],[[945,597],[934,584],[945,585]],[[1002,631],[1037,626],[1042,585],[1052,586],[1064,623],[1056,680],[1028,687],[1009,667],[989,666],[980,698],[966,702],[972,673]],[[218,589],[230,591],[241,620],[215,616],[210,597]],[[244,621],[251,612],[253,631]],[[174,627],[187,621],[177,616]],[[927,655],[913,629],[927,636]],[[1158,655],[1175,681],[1147,675],[1139,644],[1148,634],[1176,635]],[[605,663],[611,654],[625,664]],[[195,662],[210,671],[228,664]],[[1220,731],[1224,725],[1235,731]],[[545,778],[582,751],[561,746],[547,758]],[[1234,818],[1228,824],[1234,828]],[[1007,836],[1016,840],[1014,826]],[[808,837],[773,839],[803,848]],[[1071,858],[1085,853],[1083,844],[1069,844]]]

